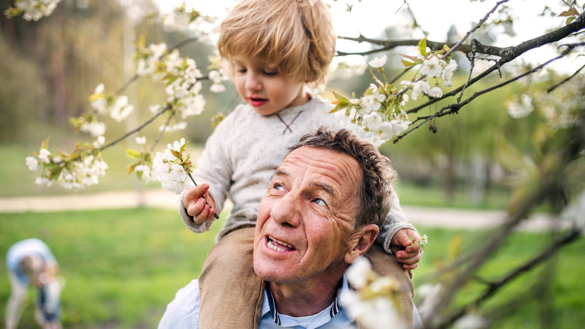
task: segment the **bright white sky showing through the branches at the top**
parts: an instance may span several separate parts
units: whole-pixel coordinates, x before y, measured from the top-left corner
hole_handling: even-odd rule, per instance
[[[227,9],[234,4],[233,0],[155,0],[160,6],[162,12],[171,11],[176,6],[183,2],[195,6],[195,9],[204,13],[205,15],[217,16],[219,19],[225,17]],[[441,42],[445,40],[447,32],[451,25],[455,25],[459,35],[463,36],[470,28],[472,22],[477,22],[491,8],[497,1],[486,0],[484,2],[469,0],[449,0],[449,1],[435,1],[435,0],[409,0],[412,12],[415,15],[419,25],[429,32],[428,40]],[[577,0],[579,8],[583,5],[585,0]],[[353,5],[352,11],[347,12],[347,4]],[[415,33],[408,33],[408,29],[404,28],[411,22],[408,12],[402,6],[402,10],[398,13],[397,9],[403,4],[401,0],[338,0],[333,2],[332,20],[333,29],[338,36],[359,36],[362,35],[371,38],[379,38],[382,36],[384,29],[387,26],[394,26],[400,39],[419,39],[422,38],[422,32],[419,30]],[[507,47],[514,46],[524,40],[538,37],[546,33],[550,29],[558,29],[565,25],[565,18],[538,16],[542,12],[545,5],[548,5],[555,12],[566,10],[566,5],[558,0],[511,0],[507,3],[512,8],[512,15],[514,17],[514,32],[515,37],[498,34],[497,42],[494,46]],[[490,18],[497,17],[498,13],[493,13]],[[497,28],[503,32],[503,28]],[[367,43],[358,44],[347,40],[338,40],[338,50],[345,52],[359,52],[371,49],[371,45]],[[398,52],[415,54],[414,47],[403,47],[396,49]],[[552,46],[541,47],[539,49],[531,50],[522,58],[530,63],[540,64],[544,61],[554,57],[556,54]],[[335,61],[344,60],[349,63],[365,63],[366,59],[362,56],[345,56],[341,59],[336,58]],[[477,64],[477,63],[476,63]],[[487,64],[487,63],[486,63]],[[585,64],[585,56],[575,59],[559,60],[553,63],[555,70],[565,73],[573,73],[579,67]]]

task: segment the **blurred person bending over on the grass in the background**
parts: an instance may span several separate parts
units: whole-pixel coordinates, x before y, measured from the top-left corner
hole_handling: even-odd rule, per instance
[[[6,253],[6,269],[11,284],[6,304],[6,329],[18,326],[30,283],[39,290],[35,308],[37,323],[44,329],[61,328],[61,285],[56,280],[57,261],[49,247],[39,239],[16,242]]]

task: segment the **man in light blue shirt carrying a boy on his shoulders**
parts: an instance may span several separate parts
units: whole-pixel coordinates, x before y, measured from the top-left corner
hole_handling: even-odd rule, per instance
[[[372,247],[393,177],[387,158],[345,129],[319,128],[292,148],[273,174],[254,231],[254,271],[266,283],[256,305],[259,328],[353,327],[337,300],[349,289],[343,273]],[[398,262],[387,266],[386,273],[408,275]],[[159,328],[198,328],[198,292],[197,280],[179,290]],[[410,327],[413,295],[409,285],[399,296]],[[227,300],[225,311],[238,307]]]

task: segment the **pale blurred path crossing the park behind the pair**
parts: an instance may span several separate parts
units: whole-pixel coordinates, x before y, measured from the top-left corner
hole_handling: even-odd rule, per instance
[[[70,196],[0,198],[0,213],[133,208],[139,205],[176,209],[178,196],[164,190],[154,189],[145,190],[142,193],[132,190]],[[403,206],[402,209],[409,222],[425,227],[495,228],[501,225],[506,217],[505,211],[500,210],[460,210],[407,205]],[[563,228],[570,227],[570,222],[560,221],[560,223]],[[529,220],[519,225],[518,229],[522,231],[548,231],[553,224],[559,225],[556,217],[548,214],[533,214]]]

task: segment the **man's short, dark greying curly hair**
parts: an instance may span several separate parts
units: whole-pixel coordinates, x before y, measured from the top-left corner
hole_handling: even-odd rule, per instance
[[[357,214],[354,228],[367,224],[381,226],[390,211],[394,190],[392,182],[395,177],[390,159],[381,155],[376,146],[357,138],[347,129],[328,129],[319,127],[301,137],[292,150],[302,146],[332,150],[356,159],[362,168],[363,179],[357,193]]]

